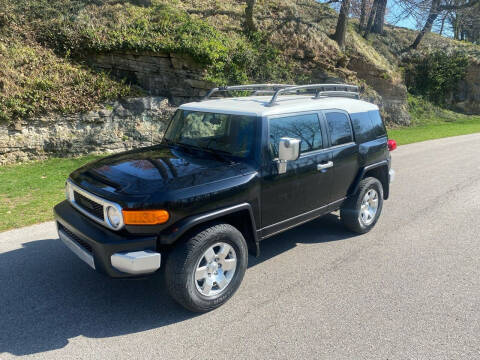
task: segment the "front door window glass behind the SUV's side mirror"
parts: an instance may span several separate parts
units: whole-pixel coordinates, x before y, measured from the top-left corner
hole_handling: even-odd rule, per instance
[[[302,140],[300,153],[323,147],[322,131],[317,114],[294,115],[269,120],[270,151],[278,156],[278,143],[282,137]]]

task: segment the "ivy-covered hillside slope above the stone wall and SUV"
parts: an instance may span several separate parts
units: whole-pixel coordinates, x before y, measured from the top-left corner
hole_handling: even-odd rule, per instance
[[[329,38],[336,13],[315,0],[257,2],[259,31],[249,36],[242,27],[244,1],[151,0],[139,6],[147,2],[0,0],[0,63],[6,65],[0,68],[0,121],[84,111],[135,93],[82,66],[91,52],[185,53],[218,84],[320,82],[325,75],[361,84],[342,67],[345,56],[360,56],[397,83],[397,60],[414,37],[410,30],[387,28],[385,36],[366,41],[352,21],[343,53]],[[478,46],[434,35],[424,46],[439,43],[463,47],[474,57],[480,53]]]

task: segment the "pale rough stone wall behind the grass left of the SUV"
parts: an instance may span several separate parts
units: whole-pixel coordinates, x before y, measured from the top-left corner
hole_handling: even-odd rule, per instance
[[[129,98],[88,113],[0,124],[0,164],[152,145],[174,111],[163,97]]]

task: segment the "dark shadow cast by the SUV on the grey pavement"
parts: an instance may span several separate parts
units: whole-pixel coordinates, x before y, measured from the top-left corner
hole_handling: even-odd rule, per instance
[[[250,257],[250,267],[297,243],[351,236],[336,216],[327,215],[262,242],[262,255]],[[0,353],[14,355],[59,349],[79,335],[118,336],[199,316],[170,299],[161,276],[106,278],[77,259],[58,239],[28,242],[0,254],[0,304]]]

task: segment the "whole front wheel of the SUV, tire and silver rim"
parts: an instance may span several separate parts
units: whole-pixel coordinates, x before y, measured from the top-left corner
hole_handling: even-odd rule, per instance
[[[239,288],[248,264],[240,231],[215,224],[193,233],[167,258],[165,278],[170,295],[195,312],[213,310]]]

